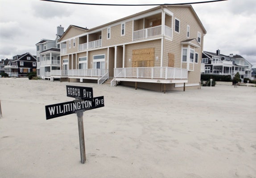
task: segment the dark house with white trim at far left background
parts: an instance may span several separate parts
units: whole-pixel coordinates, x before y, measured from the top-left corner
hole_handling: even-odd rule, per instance
[[[28,73],[36,72],[36,69],[36,56],[33,56],[30,53],[16,55],[4,66],[4,72],[8,73],[9,77],[27,77]]]

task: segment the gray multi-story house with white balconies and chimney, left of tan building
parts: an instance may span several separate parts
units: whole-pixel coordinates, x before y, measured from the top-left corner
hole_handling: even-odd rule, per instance
[[[57,41],[63,33],[64,28],[60,25],[55,40],[42,39],[36,44],[37,76],[50,79],[51,70],[60,69],[60,46]]]

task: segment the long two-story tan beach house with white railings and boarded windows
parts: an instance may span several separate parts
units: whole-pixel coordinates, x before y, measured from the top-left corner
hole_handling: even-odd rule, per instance
[[[198,88],[205,34],[191,5],[162,5],[91,29],[70,25],[58,40],[61,70],[50,75],[156,91]]]

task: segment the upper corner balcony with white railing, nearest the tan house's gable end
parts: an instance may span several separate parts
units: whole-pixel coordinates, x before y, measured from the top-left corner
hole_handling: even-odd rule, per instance
[[[173,37],[172,29],[173,17],[165,14],[162,20],[162,14],[158,13],[152,16],[134,20],[133,23],[133,40],[141,40],[145,38],[168,36]]]

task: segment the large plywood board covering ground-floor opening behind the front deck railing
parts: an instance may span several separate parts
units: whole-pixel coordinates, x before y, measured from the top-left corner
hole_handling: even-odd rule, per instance
[[[154,67],[155,49],[132,50],[132,67]]]

